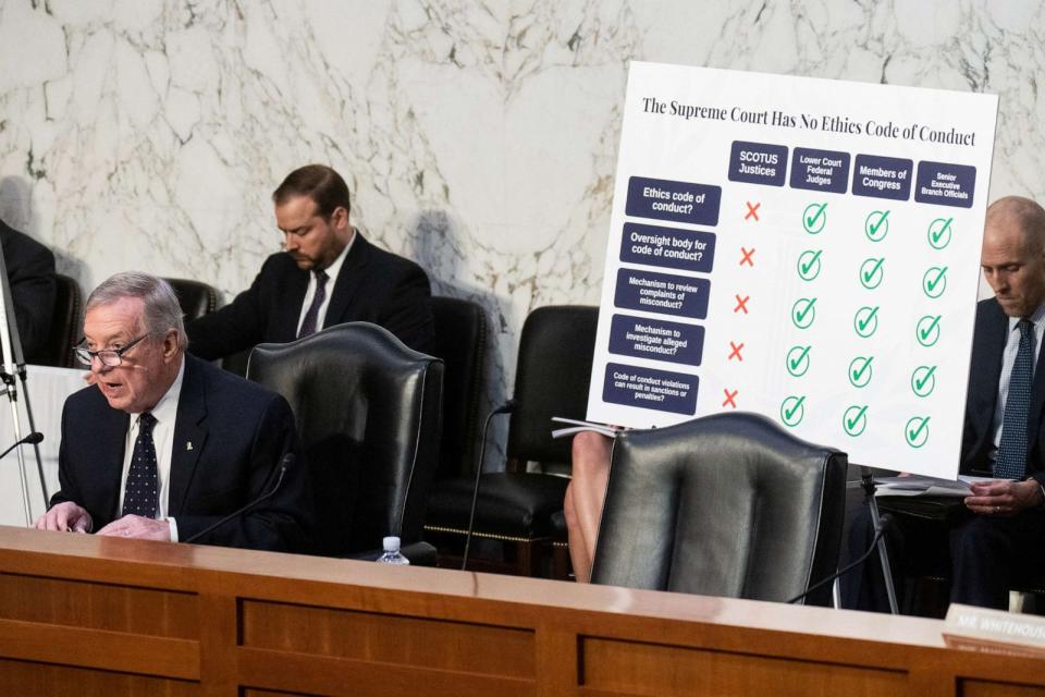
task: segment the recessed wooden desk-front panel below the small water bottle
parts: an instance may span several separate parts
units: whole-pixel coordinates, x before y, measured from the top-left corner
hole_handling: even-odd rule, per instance
[[[245,600],[243,646],[418,668],[533,677],[533,632]]]

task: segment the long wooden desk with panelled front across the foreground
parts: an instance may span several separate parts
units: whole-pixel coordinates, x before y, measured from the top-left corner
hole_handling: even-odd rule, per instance
[[[0,527],[5,695],[1045,695],[941,623]],[[1032,687],[1037,685],[1037,687]]]

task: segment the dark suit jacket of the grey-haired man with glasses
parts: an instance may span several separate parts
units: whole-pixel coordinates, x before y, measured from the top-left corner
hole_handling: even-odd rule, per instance
[[[73,501],[95,529],[120,515],[120,480],[130,415],[113,409],[97,387],[65,400],[51,505]],[[192,443],[189,450],[188,443]],[[284,453],[297,452],[294,415],[279,394],[193,356],[177,402],[168,514],[182,540],[271,489]],[[304,463],[287,468],[272,498],[230,521],[200,543],[297,551],[311,521]]]

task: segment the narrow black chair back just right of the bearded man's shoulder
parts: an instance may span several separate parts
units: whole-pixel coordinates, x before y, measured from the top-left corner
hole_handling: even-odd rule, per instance
[[[476,462],[487,360],[487,315],[477,303],[432,297],[432,353],[443,359],[443,435],[437,478],[468,474]]]

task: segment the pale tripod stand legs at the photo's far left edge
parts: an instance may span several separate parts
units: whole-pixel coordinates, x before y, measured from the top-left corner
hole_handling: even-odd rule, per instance
[[[0,368],[0,379],[3,380],[3,390],[11,405],[11,424],[14,429],[14,439],[22,440],[22,420],[19,418],[19,388],[15,376],[22,380],[22,393],[25,400],[25,414],[29,420],[29,432],[36,432],[36,423],[33,418],[33,407],[29,405],[29,392],[25,383],[25,357],[22,353],[22,337],[19,333],[19,323],[14,316],[14,303],[11,299],[11,283],[8,280],[8,265],[0,247],[0,351],[3,352],[3,366]],[[40,490],[44,493],[44,505],[47,506],[47,482],[44,479],[44,460],[40,457],[40,447],[33,444],[36,453],[36,469],[40,478]],[[22,506],[25,510],[25,525],[33,525],[33,511],[29,508],[29,487],[25,473],[25,454],[19,449],[19,476],[22,481]]]

